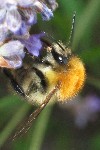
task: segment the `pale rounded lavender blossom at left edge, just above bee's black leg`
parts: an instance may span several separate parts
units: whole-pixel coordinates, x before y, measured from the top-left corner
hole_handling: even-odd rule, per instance
[[[25,56],[23,49],[20,41],[9,41],[0,47],[0,57],[3,57],[11,68],[20,68]]]

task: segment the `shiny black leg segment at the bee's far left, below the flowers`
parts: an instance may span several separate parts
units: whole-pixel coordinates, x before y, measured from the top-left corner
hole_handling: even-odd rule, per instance
[[[14,79],[13,75],[10,73],[10,71],[8,71],[7,69],[3,69],[4,74],[6,75],[6,77],[10,80],[11,85],[13,87],[13,89],[16,91],[16,93],[18,93],[19,95],[25,97],[25,93],[22,89],[22,87],[17,83],[17,81]]]

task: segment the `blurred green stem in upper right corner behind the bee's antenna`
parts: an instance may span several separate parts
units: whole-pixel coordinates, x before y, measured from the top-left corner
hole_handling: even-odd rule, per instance
[[[74,50],[76,49],[77,45],[79,45],[81,37],[85,34],[85,32],[87,32],[87,30],[89,30],[88,27],[91,27],[97,20],[96,15],[99,12],[99,9],[100,0],[91,0],[87,5],[75,28],[75,35],[73,41]]]

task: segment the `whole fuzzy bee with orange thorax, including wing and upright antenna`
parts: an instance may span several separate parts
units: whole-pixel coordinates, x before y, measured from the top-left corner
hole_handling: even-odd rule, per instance
[[[70,42],[72,41],[74,22],[75,14]],[[61,41],[50,42],[45,38],[41,40],[43,50],[38,58],[27,54],[22,68],[12,72],[4,69],[4,73],[15,91],[25,97],[29,103],[39,105],[14,138],[28,130],[31,122],[44,109],[49,100],[52,101],[56,96],[58,101],[67,101],[74,97],[84,85],[86,76],[84,64],[79,57],[72,54],[69,48],[70,44],[65,46]]]

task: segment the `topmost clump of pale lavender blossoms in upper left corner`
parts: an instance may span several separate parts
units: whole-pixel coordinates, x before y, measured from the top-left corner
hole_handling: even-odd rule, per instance
[[[50,20],[53,16],[52,11],[38,0],[4,0],[0,5],[0,24],[5,24],[8,30],[16,33],[23,21],[27,25],[36,23],[37,12],[42,14],[43,20]]]

